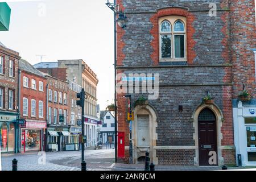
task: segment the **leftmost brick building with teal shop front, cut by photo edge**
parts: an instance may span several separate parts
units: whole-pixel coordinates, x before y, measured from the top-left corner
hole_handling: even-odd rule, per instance
[[[1,152],[18,152],[19,53],[0,43],[0,144]]]

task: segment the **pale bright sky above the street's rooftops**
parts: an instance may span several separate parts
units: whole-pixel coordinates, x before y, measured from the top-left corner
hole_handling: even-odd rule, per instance
[[[98,104],[104,110],[114,98],[113,12],[107,0],[7,1],[9,31],[0,42],[32,65],[58,59],[82,59],[96,73]]]

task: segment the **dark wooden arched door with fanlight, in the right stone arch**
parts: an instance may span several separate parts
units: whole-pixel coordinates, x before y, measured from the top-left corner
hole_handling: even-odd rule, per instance
[[[198,117],[199,165],[217,166],[216,115],[208,107]]]

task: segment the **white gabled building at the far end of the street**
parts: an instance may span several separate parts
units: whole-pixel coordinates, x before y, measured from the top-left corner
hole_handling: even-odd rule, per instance
[[[101,111],[100,140],[102,143],[114,143],[115,118],[110,111]]]

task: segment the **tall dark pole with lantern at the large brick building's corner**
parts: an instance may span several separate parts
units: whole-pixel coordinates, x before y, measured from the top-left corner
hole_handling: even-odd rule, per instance
[[[114,79],[115,79],[115,95],[114,95],[114,105],[115,105],[115,163],[117,163],[117,24],[121,28],[125,28],[126,16],[122,13],[122,11],[118,10],[118,5],[116,5],[116,0],[113,3],[110,3],[109,0],[106,3],[110,10],[114,12]],[[116,19],[116,16],[119,15],[119,18]]]

